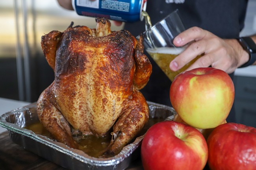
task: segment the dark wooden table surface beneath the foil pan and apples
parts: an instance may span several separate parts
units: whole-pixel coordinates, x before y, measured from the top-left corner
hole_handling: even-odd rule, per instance
[[[0,170],[66,170],[13,143],[9,133],[0,133]],[[143,170],[140,157],[126,170]],[[204,170],[209,170],[206,166]]]

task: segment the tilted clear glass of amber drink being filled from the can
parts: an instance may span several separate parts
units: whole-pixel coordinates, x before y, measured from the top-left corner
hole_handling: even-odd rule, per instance
[[[173,81],[176,75],[189,68],[189,66],[191,66],[191,64],[193,64],[201,55],[194,58],[178,71],[172,71],[169,68],[170,62],[187,47],[175,47],[173,44],[173,39],[176,35],[185,31],[185,27],[178,14],[178,10],[173,11],[170,15],[166,16],[154,26],[151,24],[148,13],[145,11],[142,12],[142,15],[145,18],[146,29],[143,33],[145,50],[167,75],[167,77]]]

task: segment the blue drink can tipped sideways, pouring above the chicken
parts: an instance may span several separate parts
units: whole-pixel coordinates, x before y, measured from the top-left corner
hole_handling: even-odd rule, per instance
[[[78,15],[135,22],[143,20],[147,0],[72,0],[72,6]]]

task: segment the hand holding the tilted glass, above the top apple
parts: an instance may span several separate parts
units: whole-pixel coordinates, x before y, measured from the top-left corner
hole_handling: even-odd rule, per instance
[[[190,45],[170,63],[170,69],[177,71],[185,64],[198,58],[187,70],[198,67],[213,67],[232,73],[249,60],[248,53],[243,50],[236,39],[222,39],[199,27],[191,27],[174,38],[175,46]]]

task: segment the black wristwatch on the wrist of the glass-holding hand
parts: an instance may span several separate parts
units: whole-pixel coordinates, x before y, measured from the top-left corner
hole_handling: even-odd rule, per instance
[[[238,38],[238,42],[241,44],[243,49],[249,53],[249,61],[240,66],[239,68],[247,67],[252,65],[256,61],[256,44],[250,37]]]

